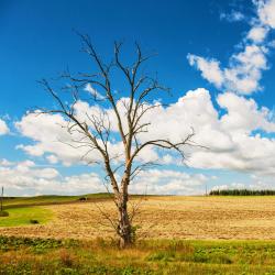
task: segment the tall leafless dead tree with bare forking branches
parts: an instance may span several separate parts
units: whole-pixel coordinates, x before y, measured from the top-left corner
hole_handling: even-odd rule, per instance
[[[152,78],[142,70],[143,64],[152,56],[144,56],[139,44],[135,44],[136,56],[134,63],[131,66],[124,65],[121,57],[122,44],[114,43],[113,59],[106,65],[96,52],[89,36],[80,35],[80,38],[82,50],[96,65],[97,73],[79,73],[75,76],[67,70],[62,74],[62,78],[65,78],[67,82],[64,89],[70,90],[73,95],[73,102],[70,103],[66,103],[61,94],[55,91],[53,85],[43,79],[41,84],[52,95],[57,107],[52,110],[41,110],[41,112],[59,113],[68,121],[67,131],[72,135],[75,133],[79,135],[79,139],[72,140],[72,143],[75,144],[73,146],[78,148],[87,147],[87,153],[82,160],[94,151],[99,153],[100,163],[103,165],[109,179],[118,211],[118,218],[111,222],[120,238],[120,246],[125,248],[132,243],[133,230],[132,217],[128,209],[129,185],[139,172],[153,164],[151,162],[142,163],[141,160],[138,160],[139,154],[145,147],[153,146],[161,150],[173,150],[184,160],[184,147],[194,145],[191,141],[194,131],[190,131],[190,134],[179,142],[162,139],[162,136],[145,142],[142,141],[140,135],[146,133],[151,124],[150,121],[145,120],[146,114],[154,108],[162,106],[161,103],[153,103],[154,92],[168,91],[166,87],[160,85],[157,78]],[[120,94],[114,91],[113,72],[116,74],[121,73],[125,81],[123,87],[128,92],[127,99],[125,92],[122,98]],[[90,85],[95,92],[91,92],[90,98],[86,100],[90,100],[90,105],[100,107],[101,112],[98,114],[85,113],[86,118],[84,119],[76,113],[75,107],[81,98],[79,95],[87,85]],[[119,102],[123,108],[119,107]],[[112,110],[116,118],[116,130],[113,130],[114,125],[110,120],[110,112],[107,110]],[[121,152],[122,154],[112,155],[110,144],[116,131],[116,140],[118,141],[119,135],[120,142],[123,144],[123,152]],[[120,179],[118,178],[119,170],[121,172]]]

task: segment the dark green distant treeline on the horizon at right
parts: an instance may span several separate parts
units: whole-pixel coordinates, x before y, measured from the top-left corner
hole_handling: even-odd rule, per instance
[[[274,196],[275,190],[224,189],[211,190],[210,196]]]

